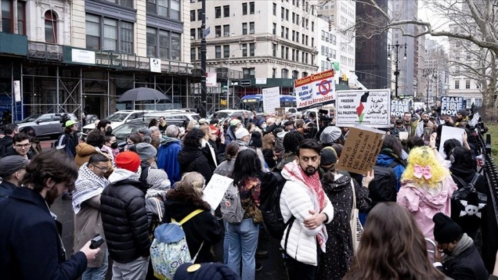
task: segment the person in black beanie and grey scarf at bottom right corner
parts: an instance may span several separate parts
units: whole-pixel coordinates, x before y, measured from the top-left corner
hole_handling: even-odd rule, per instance
[[[436,213],[432,220],[434,239],[438,242],[434,267],[451,279],[488,279],[488,271],[472,238],[463,233],[462,228],[443,213]],[[442,258],[441,252],[444,253]]]

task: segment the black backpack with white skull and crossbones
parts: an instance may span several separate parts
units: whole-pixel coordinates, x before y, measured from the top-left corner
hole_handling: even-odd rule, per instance
[[[471,180],[471,183],[465,183],[462,178],[455,175],[451,176],[455,182],[460,183],[460,189],[453,192],[451,196],[451,220],[462,226],[466,233],[476,231],[482,220],[486,202],[488,198],[475,189],[475,183],[479,179],[479,174],[476,172]]]

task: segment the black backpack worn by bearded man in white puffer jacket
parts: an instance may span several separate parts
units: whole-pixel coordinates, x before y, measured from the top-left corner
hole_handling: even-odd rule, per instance
[[[268,233],[278,240],[282,239],[283,231],[289,223],[287,222],[286,224],[283,221],[280,211],[280,194],[285,182],[286,180],[280,172],[267,172],[261,179],[261,191],[259,194],[263,223],[268,229]]]

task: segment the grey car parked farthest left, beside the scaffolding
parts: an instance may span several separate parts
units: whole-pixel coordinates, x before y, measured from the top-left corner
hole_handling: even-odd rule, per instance
[[[64,132],[62,126],[62,115],[60,113],[48,113],[42,115],[31,115],[17,124],[19,132],[33,134],[36,137],[58,137]],[[66,114],[69,119],[78,121],[74,114]]]

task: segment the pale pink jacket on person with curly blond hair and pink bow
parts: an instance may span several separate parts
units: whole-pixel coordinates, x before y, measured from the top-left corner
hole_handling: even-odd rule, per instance
[[[410,211],[423,235],[434,240],[434,222],[432,217],[441,212],[451,215],[451,195],[457,189],[451,175],[444,177],[438,187],[419,187],[412,180],[401,180],[397,203]]]

